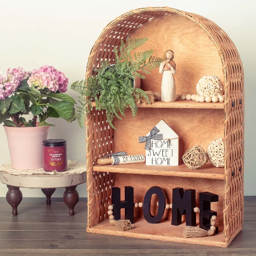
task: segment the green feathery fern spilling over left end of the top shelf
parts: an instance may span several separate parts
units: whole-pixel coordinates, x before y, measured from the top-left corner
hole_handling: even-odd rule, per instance
[[[85,113],[92,108],[92,101],[95,101],[98,110],[106,110],[108,123],[113,125],[115,117],[122,119],[127,108],[131,108],[133,117],[138,108],[133,99],[133,95],[139,98],[142,96],[149,99],[147,94],[140,88],[133,87],[133,79],[145,76],[140,74],[150,74],[150,71],[158,68],[163,61],[161,58],[152,56],[153,50],[134,53],[134,60],[131,52],[135,48],[146,43],[148,38],[127,39],[126,44],[121,40],[119,48],[114,48],[115,64],[110,65],[108,61],[101,61],[99,69],[95,69],[97,76],[88,77],[82,81],[76,81],[71,85],[71,89],[79,92],[79,102],[81,106],[77,107],[77,121],[83,128]],[[119,54],[118,54],[119,50]]]

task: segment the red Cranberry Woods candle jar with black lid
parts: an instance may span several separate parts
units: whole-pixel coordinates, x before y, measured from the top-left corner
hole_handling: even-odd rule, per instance
[[[64,172],[68,169],[67,140],[44,140],[44,164],[45,172]]]

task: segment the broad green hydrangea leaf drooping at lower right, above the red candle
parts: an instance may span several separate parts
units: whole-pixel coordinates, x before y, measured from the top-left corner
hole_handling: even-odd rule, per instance
[[[51,103],[49,107],[55,109],[60,117],[67,120],[69,123],[76,120],[76,111],[74,108],[74,104],[71,102],[57,101]]]

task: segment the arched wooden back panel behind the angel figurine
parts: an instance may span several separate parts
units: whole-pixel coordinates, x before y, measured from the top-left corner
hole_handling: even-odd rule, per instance
[[[218,76],[224,84],[218,49],[197,24],[184,16],[172,13],[148,20],[129,37],[149,38],[135,52],[153,49],[153,55],[161,58],[166,50],[174,52],[176,93],[195,94],[196,84],[206,75]],[[141,89],[161,92],[162,74],[159,74],[159,70],[155,69],[145,76]]]

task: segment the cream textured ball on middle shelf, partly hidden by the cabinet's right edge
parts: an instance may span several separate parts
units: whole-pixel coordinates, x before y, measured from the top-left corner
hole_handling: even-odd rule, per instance
[[[207,148],[207,156],[216,167],[224,167],[224,143],[222,139],[213,140]]]

